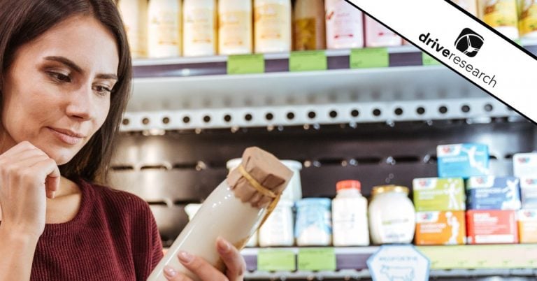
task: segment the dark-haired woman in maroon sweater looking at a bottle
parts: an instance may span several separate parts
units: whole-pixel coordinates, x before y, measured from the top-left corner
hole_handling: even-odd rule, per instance
[[[162,258],[149,206],[106,176],[130,91],[112,0],[0,0],[0,280],[145,280]],[[179,259],[202,280],[242,280]],[[173,268],[169,280],[188,280]]]

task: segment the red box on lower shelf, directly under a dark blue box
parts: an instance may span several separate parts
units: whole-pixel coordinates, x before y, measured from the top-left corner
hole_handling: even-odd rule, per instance
[[[468,244],[518,243],[514,210],[467,210]]]

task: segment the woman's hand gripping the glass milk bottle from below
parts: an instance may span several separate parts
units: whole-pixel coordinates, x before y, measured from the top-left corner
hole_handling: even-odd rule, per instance
[[[186,252],[179,252],[179,261],[185,268],[198,275],[203,281],[242,281],[246,271],[246,263],[236,247],[222,238],[216,240],[216,249],[226,265],[226,274],[221,273],[215,267],[200,257]],[[164,276],[172,281],[192,281],[187,275],[178,273],[174,268],[166,266]]]

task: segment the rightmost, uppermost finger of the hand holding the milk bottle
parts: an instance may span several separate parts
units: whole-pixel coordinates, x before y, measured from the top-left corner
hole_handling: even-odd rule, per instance
[[[226,264],[227,278],[231,281],[243,280],[243,275],[246,271],[246,263],[237,248],[220,237],[216,240],[216,248],[222,261]]]

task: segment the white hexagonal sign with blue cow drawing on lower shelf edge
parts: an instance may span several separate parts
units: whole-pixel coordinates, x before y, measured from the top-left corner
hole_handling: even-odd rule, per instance
[[[367,259],[373,281],[427,281],[429,266],[429,259],[412,245],[381,246]]]

